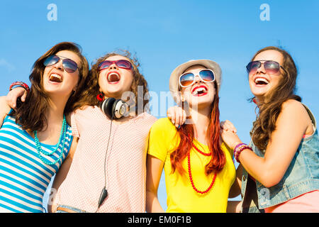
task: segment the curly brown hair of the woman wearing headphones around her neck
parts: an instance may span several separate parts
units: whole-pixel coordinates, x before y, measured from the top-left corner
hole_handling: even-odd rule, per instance
[[[96,62],[91,66],[91,70],[89,72],[89,77],[86,80],[87,89],[83,92],[81,99],[77,103],[79,106],[99,106],[99,100],[96,99],[96,96],[100,93],[99,87],[99,64],[106,60],[108,57],[121,55],[123,57],[127,57],[128,60],[132,63],[133,66],[133,82],[130,87],[130,91],[135,95],[135,104],[142,104],[142,111],[139,108],[135,109],[135,114],[142,114],[143,111],[148,111],[148,99],[145,99],[145,94],[148,93],[148,86],[145,77],[140,73],[138,67],[140,67],[140,63],[138,62],[137,57],[132,57],[132,54],[128,50],[116,50],[114,52],[109,52],[102,57],[99,57]],[[142,94],[139,91],[142,89]]]

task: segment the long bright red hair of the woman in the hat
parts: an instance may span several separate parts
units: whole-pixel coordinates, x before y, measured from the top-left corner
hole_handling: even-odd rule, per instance
[[[206,175],[211,172],[220,172],[225,165],[225,153],[220,148],[220,121],[219,121],[219,96],[217,85],[214,82],[216,94],[214,101],[211,104],[211,115],[209,116],[209,124],[207,127],[206,138],[208,139],[208,148],[211,151],[211,161],[205,166]],[[192,124],[184,124],[178,129],[180,142],[176,150],[174,150],[171,157],[172,172],[178,170],[181,174],[185,172],[181,165],[181,161],[189,154],[193,139],[194,126]]]

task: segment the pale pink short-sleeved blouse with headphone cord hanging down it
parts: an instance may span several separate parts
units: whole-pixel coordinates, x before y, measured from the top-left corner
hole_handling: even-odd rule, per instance
[[[97,212],[145,212],[146,152],[150,127],[157,120],[142,113],[112,123],[96,106],[75,111],[72,133],[79,137],[67,177],[57,191],[57,204],[95,212],[104,187],[108,196]],[[108,145],[108,149],[107,149]]]

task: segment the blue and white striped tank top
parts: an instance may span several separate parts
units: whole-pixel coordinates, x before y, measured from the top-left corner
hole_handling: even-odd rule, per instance
[[[14,117],[6,116],[0,129],[0,212],[43,212],[43,194],[67,157],[72,143],[69,125],[65,136],[61,160],[47,165],[39,157],[34,138],[16,124]],[[44,143],[40,145],[48,153],[57,147]],[[40,155],[47,162],[55,162],[61,149],[62,143],[52,155]]]

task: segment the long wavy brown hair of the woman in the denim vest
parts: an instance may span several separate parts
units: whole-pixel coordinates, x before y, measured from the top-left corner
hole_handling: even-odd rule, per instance
[[[284,59],[281,66],[284,67],[285,70],[281,71],[279,84],[268,92],[264,103],[259,104],[259,113],[250,132],[254,145],[262,151],[266,150],[272,132],[276,129],[276,121],[281,112],[282,104],[289,99],[301,101],[301,97],[295,94],[298,72],[291,55],[289,55],[286,50],[269,46],[257,51],[254,57],[252,57],[252,60],[254,60],[260,52],[266,50],[276,50],[281,53]]]

